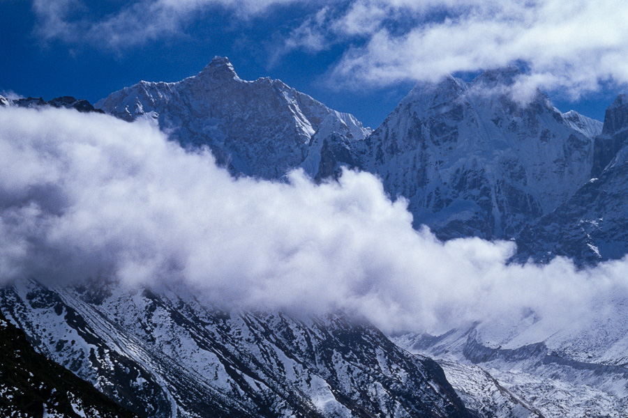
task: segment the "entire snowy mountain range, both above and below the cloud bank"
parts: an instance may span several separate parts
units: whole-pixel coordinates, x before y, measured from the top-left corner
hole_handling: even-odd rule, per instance
[[[442,240],[513,240],[512,262],[572,258],[585,268],[628,253],[628,98],[604,123],[562,113],[521,72],[420,82],[375,130],[269,78],[240,79],[216,57],[181,82],[140,82],[91,106],[144,120],[234,176],[317,182],[374,173],[414,226]],[[1,109],[0,109],[1,111]],[[225,312],[186,288],[72,288],[31,279],[0,310],[39,353],[140,417],[622,417],[628,410],[625,300],[585,327],[548,333],[533,313],[507,330],[470,323],[387,336],[343,313],[294,318]],[[437,359],[435,362],[431,358]],[[122,415],[120,415],[122,416]]]

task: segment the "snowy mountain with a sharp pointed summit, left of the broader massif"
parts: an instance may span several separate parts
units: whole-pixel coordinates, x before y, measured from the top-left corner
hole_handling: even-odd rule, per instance
[[[297,167],[315,177],[325,141],[352,143],[371,132],[279,80],[240,79],[222,57],[181,82],[140,82],[96,107],[127,121],[156,121],[184,146],[209,146],[234,173],[262,178]],[[322,165],[329,170],[329,156]]]

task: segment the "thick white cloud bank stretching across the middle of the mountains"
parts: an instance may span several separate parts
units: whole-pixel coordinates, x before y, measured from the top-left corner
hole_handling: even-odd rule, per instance
[[[628,296],[626,260],[578,271],[563,258],[508,264],[513,251],[415,231],[368,173],[234,179],[147,123],[0,109],[4,282],[183,284],[227,309],[341,309],[389,331],[530,311],[569,323]]]

